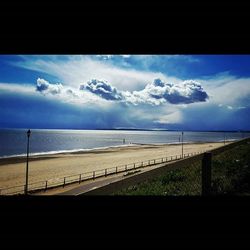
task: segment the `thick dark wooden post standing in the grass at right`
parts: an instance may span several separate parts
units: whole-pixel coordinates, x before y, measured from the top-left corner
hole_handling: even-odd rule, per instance
[[[212,153],[204,153],[202,159],[202,195],[211,193]]]

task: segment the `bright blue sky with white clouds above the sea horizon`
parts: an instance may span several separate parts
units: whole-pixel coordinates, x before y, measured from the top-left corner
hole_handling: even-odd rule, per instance
[[[0,55],[0,128],[250,130],[250,55]]]

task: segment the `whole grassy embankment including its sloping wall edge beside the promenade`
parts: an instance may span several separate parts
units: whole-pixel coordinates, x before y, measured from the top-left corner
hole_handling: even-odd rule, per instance
[[[249,193],[249,144],[250,138],[243,139],[204,154],[163,164],[84,194],[211,195],[242,192],[244,189]]]

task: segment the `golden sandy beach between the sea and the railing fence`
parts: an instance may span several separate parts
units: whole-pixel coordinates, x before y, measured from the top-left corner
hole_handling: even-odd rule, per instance
[[[224,143],[184,144],[184,154],[214,149]],[[29,183],[77,175],[129,163],[181,154],[181,145],[130,145],[89,152],[32,156]],[[0,159],[0,188],[25,184],[26,159]]]

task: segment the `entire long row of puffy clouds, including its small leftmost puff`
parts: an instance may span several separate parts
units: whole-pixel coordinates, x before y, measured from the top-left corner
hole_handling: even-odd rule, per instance
[[[82,85],[79,89],[51,84],[48,81],[38,78],[36,90],[46,96],[58,96],[65,101],[74,100],[77,103],[96,101],[96,98],[107,101],[116,101],[126,104],[146,104],[161,105],[171,104],[190,104],[195,102],[205,102],[208,98],[198,82],[193,80],[180,82],[178,84],[165,83],[160,79],[155,79],[146,85],[141,91],[120,91],[109,84],[107,81],[92,79]]]

